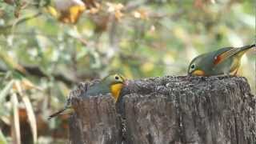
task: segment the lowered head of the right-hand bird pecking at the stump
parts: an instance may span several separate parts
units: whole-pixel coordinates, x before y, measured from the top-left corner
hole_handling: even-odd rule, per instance
[[[187,74],[188,75],[197,75],[197,76],[204,76],[205,72],[204,72],[204,67],[203,67],[203,56],[204,55],[199,55],[198,57],[194,58],[191,62],[190,62],[190,66],[187,70]]]

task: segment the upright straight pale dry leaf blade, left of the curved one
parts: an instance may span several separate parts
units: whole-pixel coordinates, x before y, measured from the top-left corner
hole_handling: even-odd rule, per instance
[[[12,140],[16,144],[21,144],[21,130],[20,130],[20,124],[19,124],[19,118],[18,118],[18,98],[17,94],[11,95],[11,102],[13,107],[13,116],[11,118],[12,125],[11,126],[11,136]]]

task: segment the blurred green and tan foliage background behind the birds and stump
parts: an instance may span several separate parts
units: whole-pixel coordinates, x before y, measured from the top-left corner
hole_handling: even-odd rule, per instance
[[[0,143],[65,143],[68,115],[47,116],[78,82],[186,75],[198,54],[254,43],[254,15],[253,0],[0,0]],[[255,58],[238,73],[254,94]]]

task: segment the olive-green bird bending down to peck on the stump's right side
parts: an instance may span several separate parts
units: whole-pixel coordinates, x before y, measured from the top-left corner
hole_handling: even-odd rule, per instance
[[[242,55],[254,47],[255,44],[242,47],[224,47],[201,54],[190,62],[188,74],[197,76],[236,75]]]

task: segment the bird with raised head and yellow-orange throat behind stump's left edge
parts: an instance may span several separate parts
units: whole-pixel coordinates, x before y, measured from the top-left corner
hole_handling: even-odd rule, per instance
[[[96,96],[99,94],[112,94],[114,98],[114,102],[118,101],[120,92],[122,90],[122,87],[126,85],[126,79],[123,78],[119,74],[111,74],[106,76],[105,78],[102,78],[101,81],[92,84],[91,86],[87,87],[87,90],[82,93],[81,97],[86,98],[89,96]],[[58,110],[58,112],[51,114],[49,116],[50,118],[54,118],[55,116],[58,116],[59,114],[66,114],[73,111],[71,106],[71,97],[67,99],[66,105],[62,110]]]

